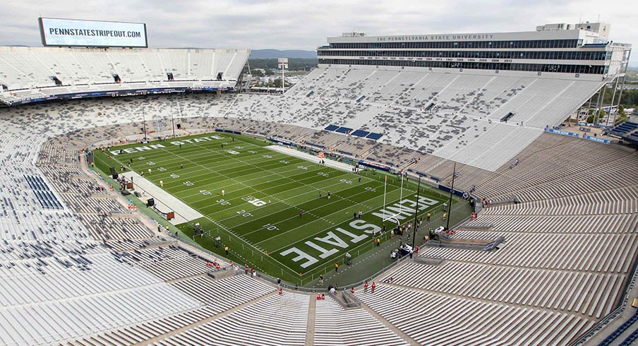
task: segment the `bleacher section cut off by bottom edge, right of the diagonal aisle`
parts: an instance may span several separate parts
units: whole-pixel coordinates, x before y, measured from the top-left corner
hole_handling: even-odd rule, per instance
[[[356,295],[420,345],[565,345],[593,324],[560,312],[395,285]]]

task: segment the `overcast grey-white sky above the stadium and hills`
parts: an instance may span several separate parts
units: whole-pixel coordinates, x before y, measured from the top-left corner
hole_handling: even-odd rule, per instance
[[[124,0],[2,1],[0,44],[40,46],[39,16],[147,23],[149,47],[314,50],[327,36],[535,30],[579,18],[611,23],[638,44],[635,0]],[[632,54],[638,64],[638,52]]]

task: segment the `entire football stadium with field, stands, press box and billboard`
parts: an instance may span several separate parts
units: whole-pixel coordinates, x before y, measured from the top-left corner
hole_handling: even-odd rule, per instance
[[[42,47],[0,47],[0,344],[638,339],[610,23],[327,31],[269,90],[251,47],[34,26]]]

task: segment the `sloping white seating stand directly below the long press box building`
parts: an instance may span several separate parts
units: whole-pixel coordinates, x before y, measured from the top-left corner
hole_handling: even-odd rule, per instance
[[[284,97],[241,95],[224,116],[379,133],[381,143],[493,171],[545,126],[560,124],[601,83],[316,68]],[[505,114],[513,115],[499,122]]]

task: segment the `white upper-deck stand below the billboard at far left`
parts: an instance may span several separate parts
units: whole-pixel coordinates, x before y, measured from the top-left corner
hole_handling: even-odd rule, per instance
[[[8,87],[0,92],[0,102],[11,105],[52,95],[113,90],[226,90],[234,87],[248,55],[248,49],[0,47],[0,83]],[[167,73],[174,80],[169,82]],[[222,80],[217,80],[218,73]]]

